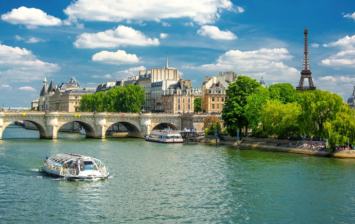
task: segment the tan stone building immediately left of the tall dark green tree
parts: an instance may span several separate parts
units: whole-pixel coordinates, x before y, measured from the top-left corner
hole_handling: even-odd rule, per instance
[[[202,111],[220,113],[224,107],[230,81],[225,76],[206,76],[202,82]]]

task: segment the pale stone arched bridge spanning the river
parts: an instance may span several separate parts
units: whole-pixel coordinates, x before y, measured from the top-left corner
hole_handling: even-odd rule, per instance
[[[0,112],[0,140],[4,129],[15,121],[33,123],[39,137],[56,139],[57,132],[68,122],[82,125],[88,138],[105,138],[106,130],[115,123],[121,123],[129,137],[142,137],[153,129],[173,130],[195,127],[204,129],[202,118],[206,115],[181,115],[172,113],[111,113],[111,112]]]

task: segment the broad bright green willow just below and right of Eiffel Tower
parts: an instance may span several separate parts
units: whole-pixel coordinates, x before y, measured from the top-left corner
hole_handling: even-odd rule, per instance
[[[304,91],[302,93],[302,112],[299,116],[301,131],[306,135],[324,137],[324,123],[335,120],[343,105],[343,98],[337,93],[322,91]]]

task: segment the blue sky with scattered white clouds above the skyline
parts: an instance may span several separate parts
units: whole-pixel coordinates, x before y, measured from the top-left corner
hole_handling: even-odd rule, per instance
[[[82,87],[140,70],[179,70],[193,87],[234,71],[266,85],[301,78],[305,26],[313,83],[355,85],[354,0],[11,0],[0,2],[0,106],[30,107],[43,86]],[[304,86],[307,86],[305,79]]]

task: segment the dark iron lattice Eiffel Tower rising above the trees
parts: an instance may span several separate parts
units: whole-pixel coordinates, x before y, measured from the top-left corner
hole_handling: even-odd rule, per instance
[[[308,56],[308,30],[307,26],[304,29],[304,52],[303,52],[303,66],[301,72],[301,79],[296,90],[315,90],[316,87],[313,85],[311,70],[309,68],[309,56]],[[304,78],[308,78],[309,86],[303,86]]]

